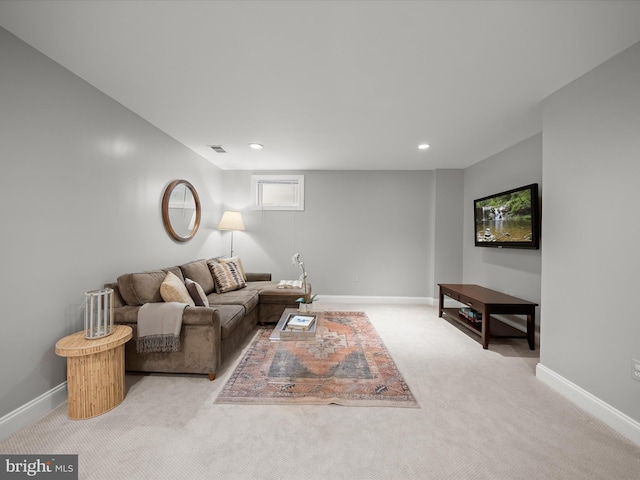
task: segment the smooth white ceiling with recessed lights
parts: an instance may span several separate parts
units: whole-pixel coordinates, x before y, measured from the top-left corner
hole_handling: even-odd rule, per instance
[[[540,132],[640,2],[2,0],[0,25],[222,169],[430,170]]]

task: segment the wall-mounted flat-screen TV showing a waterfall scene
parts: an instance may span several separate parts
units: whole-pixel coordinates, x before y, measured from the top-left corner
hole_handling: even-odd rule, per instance
[[[473,207],[476,247],[539,248],[537,183],[479,198]]]

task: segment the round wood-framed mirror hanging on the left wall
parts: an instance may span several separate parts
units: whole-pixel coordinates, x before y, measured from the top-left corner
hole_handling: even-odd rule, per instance
[[[200,199],[186,180],[174,180],[162,197],[162,221],[171,238],[186,242],[200,226]]]

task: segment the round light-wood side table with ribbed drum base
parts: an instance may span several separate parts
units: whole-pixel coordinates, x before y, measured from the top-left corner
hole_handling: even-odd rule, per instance
[[[56,354],[67,357],[69,418],[92,418],[124,400],[124,344],[131,336],[131,327],[116,325],[106,337],[86,339],[83,330],[58,340]]]

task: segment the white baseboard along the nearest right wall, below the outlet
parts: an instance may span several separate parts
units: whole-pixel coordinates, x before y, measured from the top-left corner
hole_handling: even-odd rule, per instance
[[[536,366],[536,377],[598,420],[609,425],[619,434],[624,435],[640,446],[640,423],[633,418],[613,408],[608,403],[603,402],[595,395],[558,375],[541,363]]]

